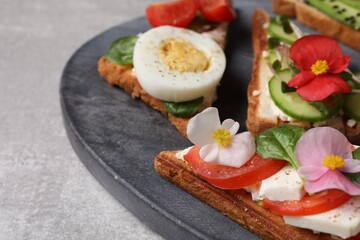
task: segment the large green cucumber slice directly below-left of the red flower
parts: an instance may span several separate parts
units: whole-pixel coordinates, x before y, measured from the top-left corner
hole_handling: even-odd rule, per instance
[[[284,80],[291,78],[290,69],[282,70],[278,74]],[[269,91],[275,105],[292,118],[309,122],[323,121],[328,118],[327,115],[302,99],[296,92],[283,93],[281,91],[281,80],[275,76],[269,81]]]

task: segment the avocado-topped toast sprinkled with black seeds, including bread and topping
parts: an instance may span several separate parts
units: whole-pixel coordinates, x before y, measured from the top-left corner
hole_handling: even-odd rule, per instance
[[[360,51],[360,2],[354,0],[273,0],[275,13],[299,22]]]

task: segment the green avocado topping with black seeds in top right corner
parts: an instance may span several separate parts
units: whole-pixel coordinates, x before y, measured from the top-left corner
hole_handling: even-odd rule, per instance
[[[355,30],[360,30],[360,3],[351,0],[307,0],[319,11],[325,13]]]

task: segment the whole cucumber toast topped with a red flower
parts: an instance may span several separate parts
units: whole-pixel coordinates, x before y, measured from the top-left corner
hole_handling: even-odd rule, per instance
[[[285,16],[270,18],[261,9],[254,13],[252,30],[247,129],[256,136],[280,124],[330,126],[359,142],[359,78],[337,42],[304,36]]]

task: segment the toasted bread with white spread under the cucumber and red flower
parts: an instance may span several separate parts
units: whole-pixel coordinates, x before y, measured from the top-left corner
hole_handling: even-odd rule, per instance
[[[252,26],[254,62],[247,92],[249,103],[246,120],[247,129],[256,136],[260,132],[280,124],[293,124],[305,129],[326,125],[345,133],[352,143],[359,143],[360,124],[357,123],[353,127],[348,126],[348,119],[345,116],[334,117],[321,123],[311,123],[300,120],[287,121],[281,119],[274,112],[268,90],[268,81],[273,74],[263,56],[263,52],[267,50],[267,30],[264,26],[268,23],[268,14],[262,9],[257,9],[253,16]]]

